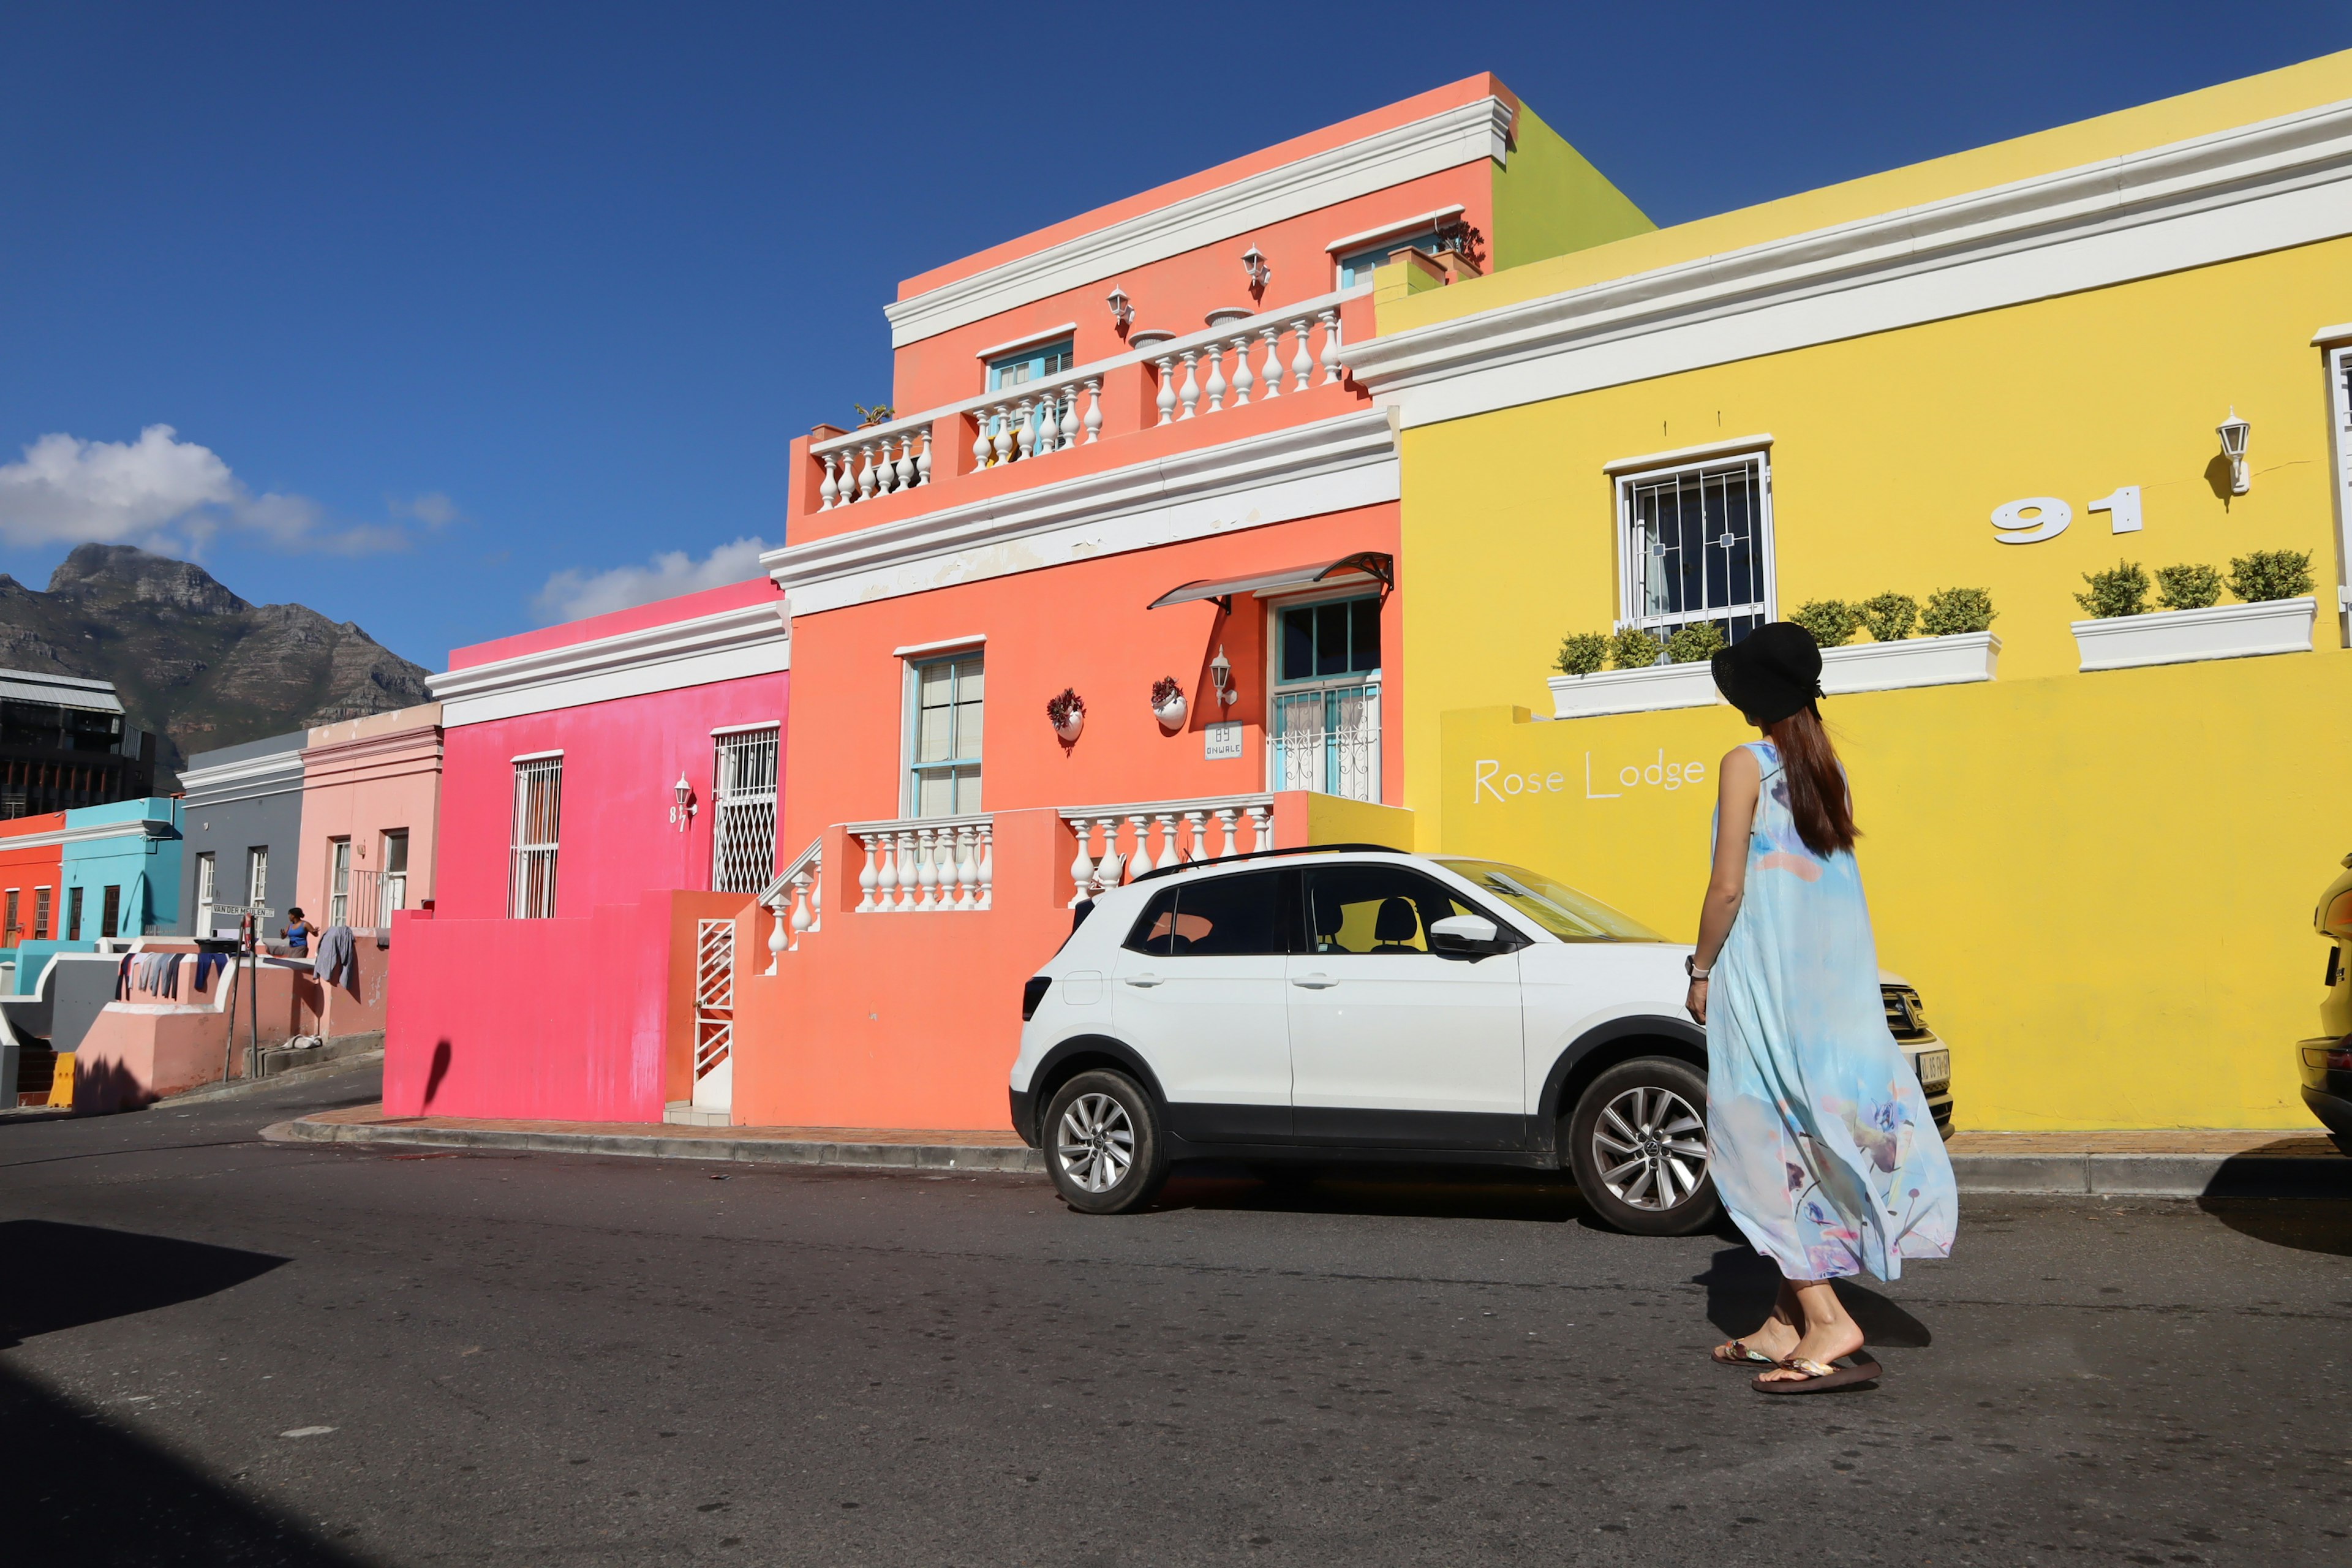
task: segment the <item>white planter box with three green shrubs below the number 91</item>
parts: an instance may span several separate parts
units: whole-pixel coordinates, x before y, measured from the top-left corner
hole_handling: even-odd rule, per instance
[[[2084,670],[2312,651],[2319,602],[2312,597],[2310,550],[2239,555],[2227,578],[2187,562],[2159,567],[2150,583],[2138,562],[2117,562],[2110,571],[2086,571],[2084,581],[2091,590],[2074,602],[2091,618],[2072,623]],[[2223,585],[2239,604],[2220,604]],[[2161,609],[2147,609],[2150,588]]]

